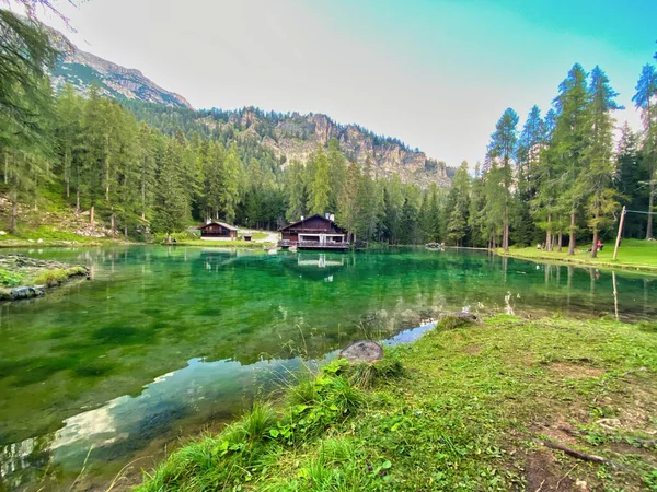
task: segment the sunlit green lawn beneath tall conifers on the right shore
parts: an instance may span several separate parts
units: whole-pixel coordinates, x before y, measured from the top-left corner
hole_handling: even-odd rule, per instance
[[[623,239],[619,248],[619,256],[613,259],[613,244],[604,245],[601,251],[598,251],[597,258],[589,258],[587,251],[588,245],[574,255],[568,256],[568,248],[565,246],[562,253],[545,251],[534,247],[514,248],[508,253],[503,249],[496,249],[496,253],[503,256],[514,258],[525,258],[540,261],[562,261],[575,265],[591,266],[599,268],[621,268],[626,270],[657,272],[657,241]]]

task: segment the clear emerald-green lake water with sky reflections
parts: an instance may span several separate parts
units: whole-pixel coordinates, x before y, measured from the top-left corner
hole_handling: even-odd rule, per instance
[[[131,460],[148,469],[180,436],[275,389],[299,353],[407,341],[445,312],[641,320],[657,311],[654,277],[481,251],[23,253],[88,265],[93,280],[0,306],[0,490],[68,490],[85,459],[77,488],[104,490]]]

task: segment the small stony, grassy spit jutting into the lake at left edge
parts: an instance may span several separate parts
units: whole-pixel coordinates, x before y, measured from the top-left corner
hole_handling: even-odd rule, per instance
[[[79,265],[0,255],[0,301],[41,297],[47,288],[60,285],[73,277],[89,278],[89,269]]]

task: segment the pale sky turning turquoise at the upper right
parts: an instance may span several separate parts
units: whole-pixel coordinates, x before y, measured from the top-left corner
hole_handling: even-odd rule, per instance
[[[545,114],[575,62],[632,95],[656,62],[655,0],[84,0],[57,3],[80,49],[196,108],[324,113],[458,165],[507,107]]]

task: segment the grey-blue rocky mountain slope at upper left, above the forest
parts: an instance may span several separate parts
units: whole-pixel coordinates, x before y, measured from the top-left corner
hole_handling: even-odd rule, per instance
[[[138,99],[172,107],[192,107],[183,96],[165,91],[139,70],[126,69],[82,51],[58,31],[48,31],[57,49],[62,52],[53,73],[55,87],[70,83],[77,91],[85,93],[92,83],[96,83],[101,94],[110,97]]]

